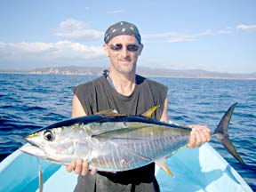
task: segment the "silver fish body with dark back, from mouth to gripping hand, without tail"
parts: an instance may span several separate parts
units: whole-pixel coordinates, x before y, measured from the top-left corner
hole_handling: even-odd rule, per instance
[[[191,129],[143,116],[83,116],[28,135],[20,148],[57,164],[83,159],[100,171],[119,172],[150,164],[188,143]]]

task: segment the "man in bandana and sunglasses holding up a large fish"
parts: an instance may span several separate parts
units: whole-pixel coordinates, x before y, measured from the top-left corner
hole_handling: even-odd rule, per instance
[[[75,88],[72,116],[92,115],[106,109],[137,116],[159,105],[154,118],[168,122],[167,87],[136,75],[137,60],[143,50],[138,28],[132,23],[117,22],[106,31],[104,42],[103,49],[110,60],[109,72]],[[191,127],[190,148],[198,148],[210,140],[208,127]],[[83,160],[68,164],[68,172],[80,174],[75,191],[159,191],[155,164],[116,173],[92,169],[90,174],[88,167]]]

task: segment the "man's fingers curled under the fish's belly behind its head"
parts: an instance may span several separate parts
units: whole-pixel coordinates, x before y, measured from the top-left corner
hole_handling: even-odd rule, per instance
[[[76,162],[71,162],[66,166],[67,172],[74,171],[76,174],[81,174],[85,176],[88,172],[91,172],[91,174],[95,174],[97,172],[97,169],[93,168],[91,171],[89,170],[89,164],[87,162],[84,162],[83,160],[79,159]]]

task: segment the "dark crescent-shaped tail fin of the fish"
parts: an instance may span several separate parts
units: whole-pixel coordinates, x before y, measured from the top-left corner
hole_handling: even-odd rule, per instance
[[[234,112],[234,109],[236,108],[236,104],[234,103],[228,110],[226,111],[225,115],[221,118],[220,124],[217,126],[217,128],[214,130],[214,133],[218,140],[222,143],[222,145],[228,150],[228,152],[236,158],[238,162],[241,164],[245,164],[244,160],[236,151],[236,148],[232,144],[232,142],[229,140],[228,136],[228,124],[230,122],[231,116]]]

